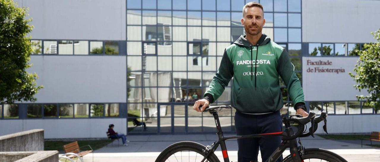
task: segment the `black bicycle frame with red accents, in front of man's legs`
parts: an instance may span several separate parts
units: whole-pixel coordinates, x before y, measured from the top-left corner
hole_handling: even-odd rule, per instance
[[[244,136],[223,136],[222,128],[220,127],[219,117],[217,112],[210,112],[215,119],[215,125],[217,129],[217,135],[219,140],[216,142],[213,142],[211,146],[206,147],[206,156],[203,158],[202,162],[206,160],[211,153],[214,153],[216,148],[220,145],[220,148],[222,148],[222,154],[224,162],[230,162],[230,159],[228,158],[227,148],[226,148],[226,140],[230,139],[243,139],[243,138],[256,138],[256,137],[268,137],[268,136],[290,136],[294,134],[293,129],[291,128],[289,123],[285,123],[285,131],[282,132],[272,132],[272,133],[262,133],[262,134],[250,134],[250,135],[244,135]],[[282,141],[279,147],[271,154],[271,156],[266,160],[266,162],[275,162],[282,153],[287,149],[290,148],[290,154],[293,157],[294,162],[301,162],[301,156],[298,152],[298,144],[297,140],[285,140]]]

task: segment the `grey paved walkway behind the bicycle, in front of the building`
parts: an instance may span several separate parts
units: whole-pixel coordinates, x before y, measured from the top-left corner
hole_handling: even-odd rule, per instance
[[[225,134],[225,136],[232,134]],[[117,145],[117,140],[93,154],[94,162],[154,162],[157,156],[167,146],[184,140],[194,141],[203,145],[210,145],[217,140],[215,134],[191,134],[191,135],[144,135],[144,136],[128,136],[129,146]],[[370,146],[363,145],[361,148],[360,140],[326,140],[319,136],[316,138],[306,137],[301,138],[302,145],[306,148],[323,148],[344,157],[349,162],[359,161],[380,161],[380,149],[371,148]],[[364,142],[363,142],[364,143]],[[365,144],[369,141],[365,142]],[[237,161],[237,142],[236,140],[226,141],[228,155],[230,161]],[[215,151],[215,154],[222,161],[222,151],[220,147]],[[283,157],[287,156],[289,150],[283,153]],[[258,157],[261,161],[259,153]],[[92,154],[84,157],[85,161],[92,161]]]

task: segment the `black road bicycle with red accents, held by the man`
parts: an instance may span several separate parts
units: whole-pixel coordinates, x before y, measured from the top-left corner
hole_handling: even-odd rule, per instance
[[[223,136],[218,117],[218,111],[221,111],[222,109],[231,109],[231,106],[209,106],[203,111],[209,112],[214,116],[217,129],[216,134],[219,138],[217,141],[213,142],[209,146],[204,146],[200,143],[191,141],[174,143],[165,148],[165,150],[163,150],[157,157],[155,162],[219,162],[218,157],[214,154],[219,145],[222,149],[224,162],[230,162],[225,144],[226,140],[267,136],[282,136],[281,144],[268,158],[267,162],[275,162],[287,148],[290,148],[290,155],[283,158],[283,162],[347,162],[347,160],[343,159],[338,154],[332,153],[331,151],[320,148],[305,148],[302,146],[301,140],[299,139],[299,137],[314,137],[314,132],[318,129],[318,123],[321,121],[325,122],[323,130],[327,133],[326,117],[328,114],[326,112],[321,112],[321,115],[318,117],[315,117],[315,113],[313,112],[310,112],[307,117],[302,117],[301,115],[284,117],[282,118],[282,123],[285,124],[285,131],[281,132],[250,134],[244,136]],[[305,125],[309,122],[311,122],[309,132],[305,132]],[[292,124],[295,123],[299,126],[296,133],[294,133],[292,129]],[[296,140],[297,138],[299,146]]]

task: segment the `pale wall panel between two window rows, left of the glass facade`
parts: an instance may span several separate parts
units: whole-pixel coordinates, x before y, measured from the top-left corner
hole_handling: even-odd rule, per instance
[[[125,56],[30,56],[36,103],[125,103]]]

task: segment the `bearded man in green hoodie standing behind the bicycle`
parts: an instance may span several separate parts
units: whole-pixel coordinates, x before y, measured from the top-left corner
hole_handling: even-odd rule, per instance
[[[234,77],[231,105],[236,109],[237,135],[282,131],[280,109],[283,107],[279,76],[286,84],[296,114],[307,116],[304,93],[294,72],[287,51],[263,34],[264,9],[260,3],[249,2],[243,7],[246,35],[240,36],[224,51],[218,72],[204,98],[195,102],[193,109],[202,112],[222,95]],[[199,107],[202,106],[200,109]],[[262,161],[281,143],[280,136],[238,139],[239,162],[258,161],[260,146]],[[281,161],[280,157],[277,161]]]

